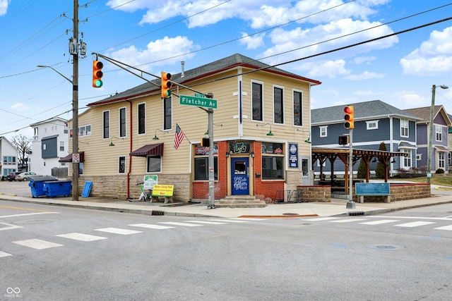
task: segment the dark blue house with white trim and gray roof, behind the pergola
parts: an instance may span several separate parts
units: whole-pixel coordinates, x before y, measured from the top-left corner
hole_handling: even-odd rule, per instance
[[[404,152],[406,156],[397,156],[391,161],[391,174],[398,168],[408,170],[417,167],[417,117],[407,111],[397,109],[390,104],[373,100],[350,104],[354,106],[355,128],[352,134],[354,149],[378,150],[381,142],[388,152]],[[330,106],[311,110],[312,147],[348,148],[339,145],[339,136],[349,134],[344,127],[344,106]],[[323,166],[323,173],[331,171],[329,162]],[[359,164],[354,165],[356,173]],[[374,173],[376,162],[371,162],[370,171]],[[319,162],[314,162],[314,173],[319,173]],[[343,162],[334,163],[335,174],[343,173]]]

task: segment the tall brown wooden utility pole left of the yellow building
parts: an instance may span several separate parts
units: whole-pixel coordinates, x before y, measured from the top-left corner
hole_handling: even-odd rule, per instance
[[[76,43],[76,54],[73,54],[72,56],[72,154],[78,154],[78,0],[73,0],[73,39]],[[80,161],[72,162],[73,201],[78,201],[79,162]]]

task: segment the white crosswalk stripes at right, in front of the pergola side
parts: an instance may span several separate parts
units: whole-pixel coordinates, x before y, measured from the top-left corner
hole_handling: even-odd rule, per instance
[[[313,221],[313,222],[321,222],[324,221],[326,223],[359,223],[360,225],[369,225],[369,226],[377,226],[377,225],[383,225],[383,224],[390,224],[394,227],[403,227],[403,228],[416,228],[416,227],[422,227],[422,226],[428,226],[438,223],[438,221],[447,223],[452,223],[452,219],[441,219],[437,218],[436,221],[410,221],[410,222],[403,222],[402,219],[406,219],[405,216],[399,216],[395,217],[394,219],[376,219],[376,220],[369,220],[366,218],[355,218],[355,219],[349,219],[349,218],[343,218],[343,217],[335,217],[335,216],[328,216],[328,217],[318,217],[318,218],[312,218],[312,219],[303,219],[303,221]],[[411,218],[410,218],[411,219]],[[430,218],[435,219],[435,218]],[[434,230],[440,230],[440,231],[452,231],[452,224],[449,226],[440,226],[433,228]]]

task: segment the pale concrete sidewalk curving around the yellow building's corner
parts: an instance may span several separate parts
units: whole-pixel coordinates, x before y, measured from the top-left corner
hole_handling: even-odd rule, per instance
[[[67,206],[84,209],[97,209],[106,211],[127,212],[133,214],[148,215],[173,215],[173,216],[204,216],[220,218],[293,218],[301,216],[338,216],[347,214],[379,214],[382,212],[396,211],[415,207],[424,207],[435,204],[452,202],[452,196],[441,195],[424,198],[409,199],[391,203],[369,202],[355,203],[355,209],[346,209],[346,199],[332,199],[330,203],[283,203],[268,204],[264,208],[217,208],[208,209],[207,204],[181,204],[181,203],[150,203],[129,202],[102,199],[100,197],[80,197],[78,202],[71,197],[47,198],[47,197],[20,197],[17,195],[0,194],[0,199],[16,202],[30,202],[36,204],[49,204],[54,206]]]

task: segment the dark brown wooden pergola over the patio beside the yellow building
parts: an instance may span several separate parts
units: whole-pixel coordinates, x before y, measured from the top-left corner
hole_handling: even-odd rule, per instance
[[[386,152],[381,150],[369,150],[369,149],[353,149],[353,162],[355,165],[357,161],[362,159],[366,164],[366,182],[369,183],[369,164],[372,159],[378,159],[384,167],[384,181],[388,182],[388,168],[391,163],[391,158],[394,156],[407,156],[404,152]],[[348,175],[348,158],[350,149],[331,149],[322,147],[312,147],[312,170],[314,170],[314,162],[320,161],[320,174],[323,174],[323,164],[326,160],[331,164],[331,178],[334,176],[334,161],[340,159],[345,165],[345,175]],[[345,191],[348,188],[348,181],[345,181]]]

